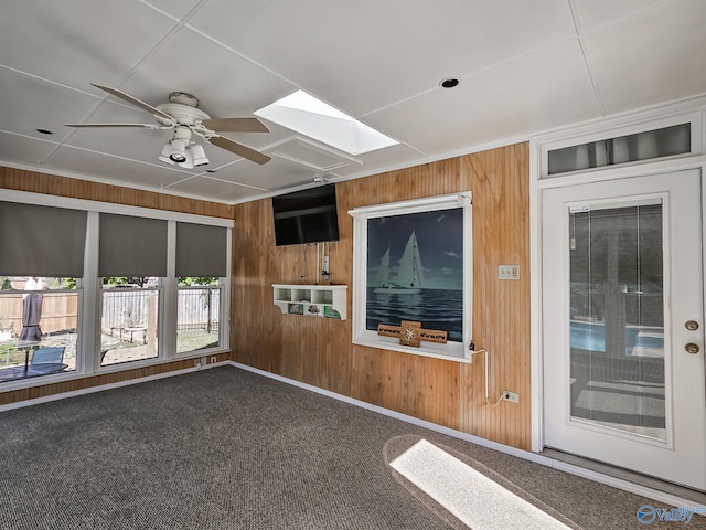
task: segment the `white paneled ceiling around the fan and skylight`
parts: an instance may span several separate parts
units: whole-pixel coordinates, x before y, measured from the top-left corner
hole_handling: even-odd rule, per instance
[[[22,0],[0,18],[0,165],[237,203],[706,93],[704,0]],[[439,82],[458,77],[458,87]],[[266,123],[157,160],[169,131],[90,85],[246,117],[297,89],[400,144],[357,157]],[[49,129],[45,136],[36,129]]]

